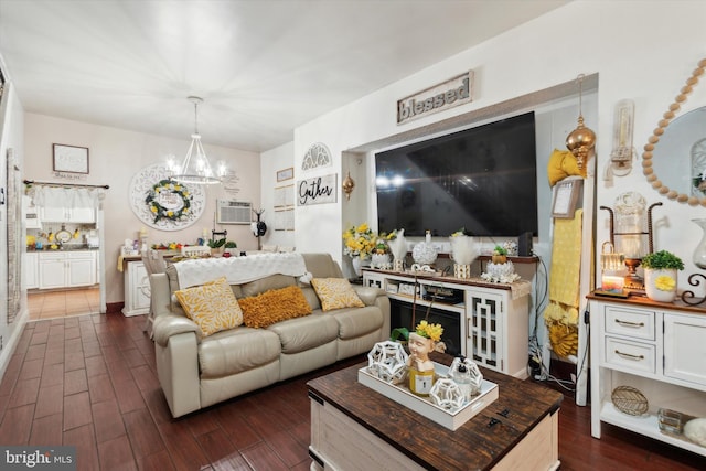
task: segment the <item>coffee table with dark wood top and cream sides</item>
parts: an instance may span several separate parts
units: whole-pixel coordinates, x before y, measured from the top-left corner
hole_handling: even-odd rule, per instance
[[[451,357],[435,361],[449,365]],[[490,370],[499,398],[456,431],[357,382],[361,363],[307,383],[312,470],[554,470],[564,396]]]

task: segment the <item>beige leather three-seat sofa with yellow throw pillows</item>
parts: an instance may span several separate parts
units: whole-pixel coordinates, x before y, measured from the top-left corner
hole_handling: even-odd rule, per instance
[[[314,278],[342,278],[329,254],[302,254]],[[244,325],[201,338],[172,297],[174,266],[151,276],[157,372],[173,417],[248,393],[339,360],[368,352],[389,336],[389,301],[383,290],[354,286],[364,308],[323,312],[315,291],[297,277],[271,275],[231,285],[236,298],[291,285],[301,287],[313,313],[265,329]]]

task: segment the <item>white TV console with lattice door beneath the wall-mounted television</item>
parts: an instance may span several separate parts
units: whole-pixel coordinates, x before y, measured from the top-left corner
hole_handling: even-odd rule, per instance
[[[415,282],[418,286],[416,297]],[[525,288],[524,283],[528,281],[518,281],[515,288],[521,283]],[[419,307],[417,322],[424,319],[429,304],[458,318],[462,355],[486,368],[523,379],[528,376],[527,289],[523,289],[523,295],[515,296],[512,285],[486,282],[480,278],[415,276],[373,269],[363,271],[363,285],[387,291],[391,300],[409,304],[416,302]],[[430,290],[439,289],[460,293],[460,299],[453,302],[424,299]],[[397,327],[400,325],[392,325],[393,329]]]

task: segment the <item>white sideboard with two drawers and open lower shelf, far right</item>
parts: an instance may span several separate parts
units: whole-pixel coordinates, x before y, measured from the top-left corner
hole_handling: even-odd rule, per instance
[[[706,456],[706,447],[663,433],[660,408],[706,417],[706,310],[589,296],[591,351],[591,435],[601,422]],[[632,416],[611,400],[618,386],[648,399],[648,411]]]

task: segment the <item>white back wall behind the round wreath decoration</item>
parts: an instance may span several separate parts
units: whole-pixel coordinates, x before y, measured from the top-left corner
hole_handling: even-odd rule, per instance
[[[146,226],[130,208],[128,190],[132,176],[142,168],[164,162],[165,156],[182,157],[189,141],[162,136],[127,131],[105,126],[72,121],[43,115],[25,114],[25,161],[24,178],[43,182],[65,182],[53,176],[52,143],[65,143],[89,149],[89,174],[78,183],[108,184],[103,202],[105,214],[105,267],[106,302],[124,300],[124,278],[117,270],[119,247],[126,238],[138,238],[138,232]],[[158,231],[148,228],[148,243],[195,244],[203,229],[211,231],[215,221],[217,199],[249,201],[253,207],[260,205],[259,154],[236,149],[210,146],[204,137],[204,149],[212,160],[224,160],[239,179],[238,193],[226,193],[222,185],[206,186],[206,208],[192,226],[180,231]],[[156,182],[157,183],[157,182]],[[253,250],[257,239],[249,225],[216,225],[217,231],[226,229],[227,238],[238,244],[238,248]]]

